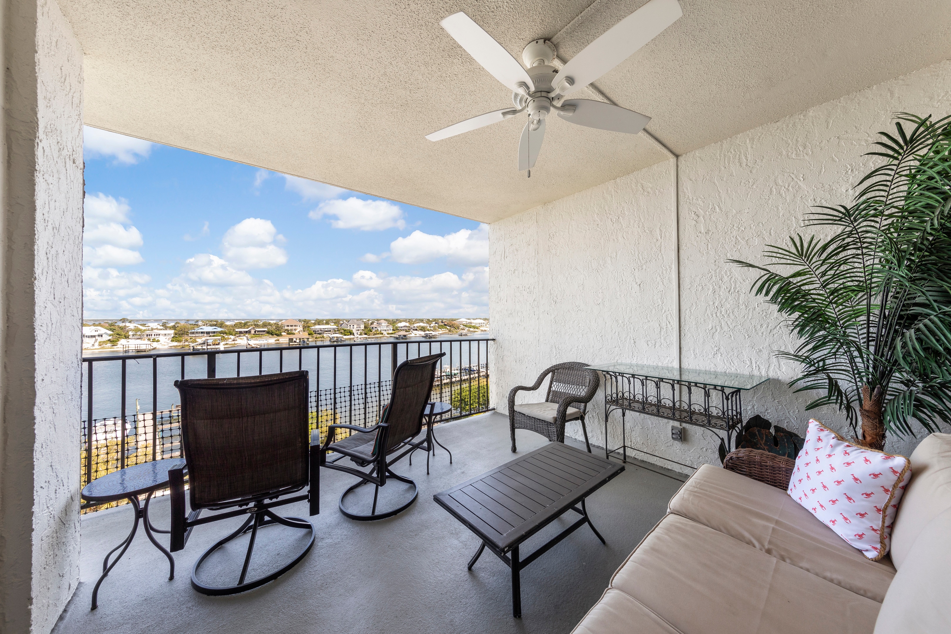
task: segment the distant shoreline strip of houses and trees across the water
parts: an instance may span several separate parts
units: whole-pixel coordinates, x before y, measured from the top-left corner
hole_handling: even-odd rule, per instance
[[[293,321],[285,325],[284,321]],[[361,323],[362,330],[351,328],[354,321]],[[345,327],[345,325],[351,328]],[[91,344],[84,337],[83,352],[149,352],[154,349],[190,350],[195,346],[234,348],[238,346],[271,347],[293,343],[318,343],[331,340],[354,341],[363,339],[392,339],[409,337],[487,336],[488,317],[474,318],[407,318],[392,319],[182,319],[147,320],[84,319],[83,327],[104,329],[107,334]],[[220,331],[201,335],[189,335],[202,326],[220,328]],[[329,327],[335,327],[330,329]],[[254,329],[251,335],[246,329]],[[298,332],[292,332],[297,330]],[[146,333],[164,331],[162,336],[146,338]],[[169,336],[170,335],[170,336]],[[143,350],[136,351],[135,347]]]

